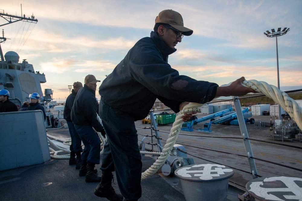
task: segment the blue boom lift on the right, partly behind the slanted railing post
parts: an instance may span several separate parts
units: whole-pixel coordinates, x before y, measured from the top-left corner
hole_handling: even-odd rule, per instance
[[[249,111],[249,108],[244,108],[242,110],[242,113],[243,113],[245,123],[247,123],[247,122],[250,122],[251,124],[255,123],[255,119],[253,119],[253,118],[248,119],[249,117],[252,117],[252,112]],[[239,125],[236,112],[234,112],[230,115],[221,117],[219,119],[210,121],[209,123],[204,123],[204,129],[197,129],[197,130],[211,132],[212,131],[211,124],[219,124],[219,123],[221,123],[223,125]]]

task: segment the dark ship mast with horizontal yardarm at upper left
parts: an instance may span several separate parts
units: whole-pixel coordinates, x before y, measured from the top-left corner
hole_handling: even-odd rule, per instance
[[[22,12],[22,4],[21,4],[21,12]],[[21,13],[22,15],[22,13]],[[31,17],[25,17],[25,14],[22,16],[17,16],[17,15],[11,15],[11,14],[5,14],[4,10],[0,9],[0,17],[2,17],[3,19],[5,19],[6,21],[8,21],[8,23],[5,24],[0,24],[1,26],[7,25],[7,24],[11,24],[14,22],[18,22],[18,21],[25,21],[25,22],[31,22],[31,23],[37,23],[38,20],[35,19],[34,14]],[[3,53],[2,53],[2,49],[1,49],[1,43],[5,42],[6,38],[4,37],[4,30],[2,29],[2,37],[0,37],[0,57],[1,57],[1,61],[4,61],[4,57],[3,57]]]

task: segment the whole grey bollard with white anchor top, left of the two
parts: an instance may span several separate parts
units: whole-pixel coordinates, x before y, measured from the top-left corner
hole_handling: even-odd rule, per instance
[[[217,164],[187,165],[175,171],[186,201],[225,201],[233,174],[229,167]]]

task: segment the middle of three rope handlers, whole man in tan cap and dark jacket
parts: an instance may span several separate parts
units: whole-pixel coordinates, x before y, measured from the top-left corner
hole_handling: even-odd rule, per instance
[[[94,172],[95,164],[100,164],[101,143],[93,128],[105,134],[104,127],[97,119],[97,102],[95,101],[97,82],[100,80],[96,80],[93,75],[85,77],[84,87],[77,93],[71,110],[72,123],[85,145],[79,175],[84,172],[87,164],[86,182],[101,181],[101,177]]]

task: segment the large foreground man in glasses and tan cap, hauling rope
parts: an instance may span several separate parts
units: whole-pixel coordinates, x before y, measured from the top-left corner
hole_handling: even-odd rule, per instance
[[[216,96],[241,96],[254,92],[241,85],[244,77],[230,86],[198,81],[168,64],[168,56],[184,36],[193,31],[184,27],[184,20],[176,11],[161,11],[155,19],[150,37],[140,39],[125,58],[106,77],[99,88],[101,95],[99,115],[107,133],[102,159],[102,181],[95,195],[109,200],[111,178],[116,171],[117,183],[125,201],[138,200],[142,162],[134,121],[145,118],[156,98],[173,111],[179,112],[188,102],[206,103]],[[182,116],[187,121],[196,111]],[[110,180],[110,182],[108,181]],[[116,198],[116,199],[114,199]]]

